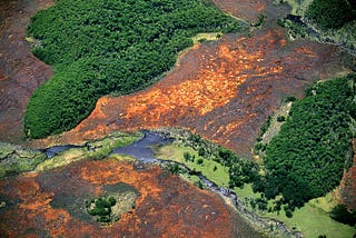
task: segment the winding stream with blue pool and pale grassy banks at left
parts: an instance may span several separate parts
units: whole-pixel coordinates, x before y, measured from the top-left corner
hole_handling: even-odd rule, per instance
[[[52,171],[56,173],[56,171],[62,170],[63,168],[67,168],[69,165],[75,166],[78,162],[83,160],[99,161],[101,158],[105,158],[105,157],[107,157],[107,159],[109,160],[111,158],[116,161],[119,160],[122,162],[130,162],[134,165],[134,168],[136,170],[142,170],[142,169],[146,170],[145,168],[149,165],[150,166],[159,165],[160,167],[166,169],[169,169],[170,166],[178,165],[180,167],[180,171],[185,171],[184,173],[186,175],[198,177],[199,181],[201,182],[204,188],[207,189],[207,191],[210,191],[210,192],[212,191],[214,194],[219,195],[225,200],[225,202],[231,206],[235,209],[236,215],[240,217],[239,218],[240,224],[245,224],[244,226],[249,227],[248,229],[257,230],[257,232],[265,234],[265,236],[268,236],[268,237],[269,236],[283,237],[284,236],[283,234],[288,236],[293,235],[293,232],[290,232],[290,230],[284,227],[283,224],[276,220],[261,219],[258,216],[250,212],[249,210],[247,210],[246,207],[243,206],[243,201],[234,191],[227,188],[220,187],[217,184],[210,181],[204,173],[191,170],[189,167],[185,166],[184,163],[177,163],[176,161],[167,160],[167,158],[165,160],[157,159],[155,151],[151,148],[161,147],[169,142],[171,142],[171,138],[165,138],[162,137],[162,135],[150,132],[150,131],[144,131],[142,133],[135,133],[135,135],[117,132],[115,135],[110,135],[103,138],[102,140],[88,141],[85,145],[76,145],[76,146],[67,145],[60,148],[59,147],[48,148],[44,151],[26,150],[26,152],[28,153],[22,152],[20,156],[22,159],[26,159],[26,157],[28,157],[27,159],[29,159],[29,158],[32,158],[33,155],[40,155],[42,160],[39,162],[33,162],[32,169],[12,170],[12,175],[13,175],[13,178],[17,178],[14,177],[14,175],[19,175],[23,171],[30,171],[30,173],[24,173],[24,176],[48,173],[49,171]],[[2,151],[2,149],[4,148],[1,148],[0,151]],[[57,150],[57,153],[53,153],[55,150]],[[16,152],[17,155],[20,153],[21,151],[20,147],[17,147],[16,151],[17,151]],[[7,159],[10,159],[10,158],[7,158]],[[11,158],[11,160],[17,161],[18,163],[21,162],[19,160],[14,160],[13,157]],[[100,161],[105,162],[106,160],[100,160]],[[7,191],[2,190],[2,192],[7,192]],[[71,209],[75,209],[75,208],[72,207]],[[294,237],[298,237],[298,236],[294,236]]]

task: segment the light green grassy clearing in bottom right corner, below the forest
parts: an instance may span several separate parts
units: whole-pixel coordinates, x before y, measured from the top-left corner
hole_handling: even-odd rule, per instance
[[[248,197],[254,199],[260,197],[259,192],[255,194],[253,191],[251,185],[245,185],[244,188],[236,188],[235,191],[243,200]],[[273,201],[270,200],[268,207],[270,207],[271,204]],[[290,229],[300,231],[306,238],[314,238],[319,235],[326,235],[326,237],[352,238],[356,234],[355,228],[337,222],[328,216],[328,211],[330,211],[336,204],[332,194],[328,194],[325,197],[310,200],[300,209],[296,209],[293,212],[291,218],[287,218],[283,210],[278,214],[267,211],[260,212],[257,210],[256,214],[266,218],[280,220]],[[250,208],[250,206],[247,207]]]

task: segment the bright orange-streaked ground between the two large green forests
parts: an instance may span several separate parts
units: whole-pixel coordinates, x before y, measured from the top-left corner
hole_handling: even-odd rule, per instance
[[[185,127],[250,157],[259,127],[286,96],[342,67],[333,46],[288,42],[283,29],[229,36],[195,47],[152,87],[101,98],[92,113],[61,137],[36,146],[75,143],[113,130]]]

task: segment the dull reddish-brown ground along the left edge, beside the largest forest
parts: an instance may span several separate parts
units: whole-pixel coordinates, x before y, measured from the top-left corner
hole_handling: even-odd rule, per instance
[[[28,100],[51,70],[36,59],[26,42],[26,26],[52,0],[0,1],[0,141],[22,138]]]

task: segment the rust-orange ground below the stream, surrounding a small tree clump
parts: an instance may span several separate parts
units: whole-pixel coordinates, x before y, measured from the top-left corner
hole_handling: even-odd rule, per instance
[[[139,192],[132,214],[110,226],[83,221],[51,206],[53,196],[98,196],[103,185],[125,182]],[[237,237],[255,236],[216,195],[187,184],[159,167],[81,161],[61,170],[0,180],[0,195],[19,199],[0,216],[1,237]],[[85,208],[85,204],[82,205]],[[47,237],[47,236],[46,236]]]

